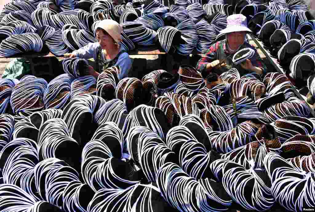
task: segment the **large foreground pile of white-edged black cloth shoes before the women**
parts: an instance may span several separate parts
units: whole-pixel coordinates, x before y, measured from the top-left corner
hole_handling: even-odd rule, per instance
[[[0,80],[0,211],[302,211],[315,118],[280,73]]]

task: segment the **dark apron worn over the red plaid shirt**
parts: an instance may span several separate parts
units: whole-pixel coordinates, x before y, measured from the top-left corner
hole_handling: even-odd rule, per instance
[[[241,76],[243,76],[244,74],[248,74],[248,70],[245,70],[242,68],[242,66],[240,64],[235,65],[232,62],[232,58],[234,54],[226,54],[223,48],[223,44],[225,41],[220,42],[218,50],[216,51],[216,59],[217,60],[226,60],[226,66],[223,66],[219,69],[215,69],[214,72],[217,73],[218,75],[221,75],[223,72],[226,72],[232,68],[236,68],[238,70],[238,72],[240,73]],[[229,57],[229,58],[227,58]]]

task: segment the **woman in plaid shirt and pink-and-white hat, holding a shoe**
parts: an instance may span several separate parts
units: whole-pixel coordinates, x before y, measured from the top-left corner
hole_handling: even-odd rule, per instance
[[[198,61],[197,70],[202,72],[203,75],[208,75],[210,72],[220,75],[231,68],[236,68],[241,75],[252,72],[265,73],[266,69],[258,61],[257,50],[246,41],[247,33],[251,32],[247,27],[247,19],[244,15],[234,14],[228,16],[226,29],[220,31],[221,34],[225,34],[226,39],[210,46],[209,51]],[[233,64],[233,55],[243,48],[253,49],[255,51],[254,56],[246,59],[241,64]],[[225,63],[216,66],[224,60],[226,60]]]

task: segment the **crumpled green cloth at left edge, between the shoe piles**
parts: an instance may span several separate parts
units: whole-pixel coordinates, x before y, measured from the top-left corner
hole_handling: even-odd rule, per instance
[[[26,59],[24,58],[16,58],[9,62],[3,72],[2,78],[20,80],[23,76],[28,74],[31,74],[30,64],[26,63]]]

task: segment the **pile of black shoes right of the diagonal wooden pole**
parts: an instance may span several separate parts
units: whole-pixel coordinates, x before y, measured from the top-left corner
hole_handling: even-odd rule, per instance
[[[300,94],[307,96],[307,102],[313,105],[315,20],[307,5],[303,1],[271,1],[266,10],[256,13],[260,5],[244,4],[247,5],[241,11],[248,13],[245,15],[253,35],[270,56],[277,59],[279,67]]]

